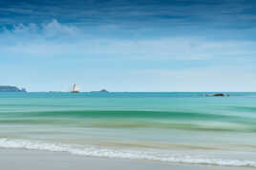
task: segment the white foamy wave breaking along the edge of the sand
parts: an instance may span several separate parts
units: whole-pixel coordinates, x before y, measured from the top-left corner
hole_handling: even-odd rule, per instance
[[[77,144],[38,142],[29,140],[0,139],[0,148],[23,148],[53,152],[68,152],[74,155],[88,157],[104,157],[130,160],[167,161],[173,163],[207,164],[233,167],[256,167],[256,161],[207,159],[200,156],[174,155],[153,151],[135,151]]]

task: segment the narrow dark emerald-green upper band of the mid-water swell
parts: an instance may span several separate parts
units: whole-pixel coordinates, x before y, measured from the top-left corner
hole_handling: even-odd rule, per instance
[[[4,115],[4,114],[2,114]],[[178,119],[178,120],[240,120],[241,116],[210,114],[190,111],[152,111],[152,110],[60,110],[12,112],[7,117],[41,118],[109,118],[109,119]]]

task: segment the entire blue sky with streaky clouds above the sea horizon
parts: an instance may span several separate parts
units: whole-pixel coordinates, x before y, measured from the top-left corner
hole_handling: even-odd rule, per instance
[[[256,91],[255,0],[0,0],[0,85]]]

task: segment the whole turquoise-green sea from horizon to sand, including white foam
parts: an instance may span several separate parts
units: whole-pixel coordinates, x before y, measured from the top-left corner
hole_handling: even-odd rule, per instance
[[[256,93],[0,93],[0,148],[256,167]]]

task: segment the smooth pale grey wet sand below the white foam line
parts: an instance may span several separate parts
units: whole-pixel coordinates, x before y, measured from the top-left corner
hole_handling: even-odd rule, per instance
[[[252,170],[245,167],[181,165],[156,161],[117,160],[90,158],[61,152],[23,149],[1,149],[0,164],[3,170]]]

